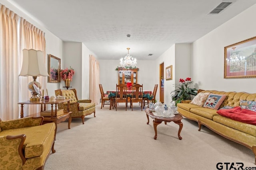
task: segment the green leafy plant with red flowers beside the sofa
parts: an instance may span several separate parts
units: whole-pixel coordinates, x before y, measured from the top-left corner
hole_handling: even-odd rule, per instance
[[[197,95],[196,88],[190,88],[193,84],[191,78],[187,77],[185,80],[180,78],[181,84],[174,84],[175,90],[171,92],[172,101],[175,101],[175,106],[177,103],[181,103],[182,100],[191,100],[191,95]]]

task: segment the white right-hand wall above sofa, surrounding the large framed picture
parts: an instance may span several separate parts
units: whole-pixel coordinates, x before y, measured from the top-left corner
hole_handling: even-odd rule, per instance
[[[224,47],[256,36],[256,5],[193,43],[192,77],[200,89],[255,93],[255,78],[224,79]]]

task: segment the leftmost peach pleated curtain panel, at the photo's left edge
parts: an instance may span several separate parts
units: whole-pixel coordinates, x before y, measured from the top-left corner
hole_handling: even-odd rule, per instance
[[[0,118],[17,119],[18,106],[18,41],[19,16],[0,4]]]

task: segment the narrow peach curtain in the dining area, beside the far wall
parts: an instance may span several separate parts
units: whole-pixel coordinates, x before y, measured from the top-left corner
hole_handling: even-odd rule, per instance
[[[90,55],[90,75],[89,75],[89,98],[92,100],[92,103],[100,103],[100,68],[99,62],[95,59],[94,56]]]

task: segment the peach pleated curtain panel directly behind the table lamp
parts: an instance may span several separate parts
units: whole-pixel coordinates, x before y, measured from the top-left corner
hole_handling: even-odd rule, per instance
[[[21,59],[22,50],[23,49],[34,49],[34,50],[41,50],[44,52],[44,63],[46,61],[46,42],[44,37],[44,32],[26,21],[24,18],[20,18],[20,38],[19,38],[19,52]],[[22,62],[20,63],[22,64]],[[30,91],[28,90],[28,83],[32,82],[32,76],[20,76],[19,79],[19,92],[20,92],[20,101],[27,101],[30,97]],[[42,89],[46,89],[47,77],[39,76],[37,77],[36,81],[40,82],[42,85]],[[24,105],[24,116],[37,113],[40,111],[40,105]]]

